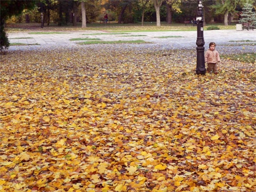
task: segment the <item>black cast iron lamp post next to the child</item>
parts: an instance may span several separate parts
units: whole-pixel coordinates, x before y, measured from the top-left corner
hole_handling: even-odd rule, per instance
[[[206,73],[204,60],[204,20],[202,0],[197,0],[197,39],[196,39],[196,74],[204,75]]]

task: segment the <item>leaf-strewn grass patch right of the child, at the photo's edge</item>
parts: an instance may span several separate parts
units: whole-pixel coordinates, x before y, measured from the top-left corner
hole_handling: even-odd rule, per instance
[[[256,63],[256,53],[241,53],[241,54],[228,54],[222,56],[225,59],[247,62],[247,63]]]

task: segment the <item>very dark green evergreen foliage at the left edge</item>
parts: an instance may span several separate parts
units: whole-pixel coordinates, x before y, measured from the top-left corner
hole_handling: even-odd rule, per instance
[[[4,28],[6,19],[12,15],[19,15],[24,9],[33,9],[35,1],[1,0],[0,5],[0,49],[1,51],[4,51],[10,46]]]

